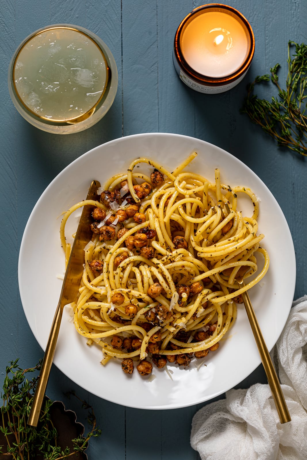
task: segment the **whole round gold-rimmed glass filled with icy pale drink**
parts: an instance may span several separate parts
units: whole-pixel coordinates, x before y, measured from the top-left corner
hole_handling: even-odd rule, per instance
[[[50,132],[81,131],[110,108],[116,64],[96,35],[77,26],[54,25],[17,48],[9,87],[18,111],[30,123]]]

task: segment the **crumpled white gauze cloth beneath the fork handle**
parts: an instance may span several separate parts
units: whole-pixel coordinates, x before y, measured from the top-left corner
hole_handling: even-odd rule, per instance
[[[293,303],[271,356],[292,421],[279,422],[268,385],[227,391],[193,418],[202,460],[307,460],[307,296]]]

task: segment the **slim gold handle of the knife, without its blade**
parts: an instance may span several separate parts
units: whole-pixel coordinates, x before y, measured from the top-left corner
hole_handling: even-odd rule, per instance
[[[57,310],[55,312],[52,327],[50,330],[48,342],[46,345],[46,351],[44,359],[41,365],[41,372],[36,384],[36,389],[32,401],[31,410],[28,418],[28,425],[37,426],[41,414],[41,406],[43,404],[46,386],[49,379],[50,369],[52,366],[55,346],[57,344],[58,332],[60,330],[60,324],[63,314],[63,308],[61,308],[61,302],[58,303]]]

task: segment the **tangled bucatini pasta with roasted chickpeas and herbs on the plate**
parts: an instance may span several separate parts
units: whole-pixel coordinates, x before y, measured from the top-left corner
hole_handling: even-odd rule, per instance
[[[259,205],[241,185],[210,182],[185,167],[173,173],[147,158],[137,158],[127,172],[105,184],[100,201],[71,207],[61,223],[66,259],[70,246],[65,224],[76,209],[93,207],[93,239],[85,249],[74,324],[87,345],[102,348],[102,364],[122,360],[141,375],[167,362],[186,366],[191,357],[215,351],[236,318],[240,294],[266,274],[269,257],[260,247]],[[151,176],[136,173],[146,163]],[[237,195],[249,196],[252,216],[237,209]],[[258,270],[255,254],[262,254]],[[236,277],[252,277],[238,289]]]

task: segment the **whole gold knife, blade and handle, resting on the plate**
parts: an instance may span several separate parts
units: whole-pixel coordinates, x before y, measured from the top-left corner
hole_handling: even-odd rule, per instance
[[[86,199],[96,200],[98,198],[97,190],[99,187],[100,183],[98,180],[93,180],[88,190]],[[36,385],[35,394],[29,413],[28,425],[31,426],[37,426],[40,418],[41,406],[44,401],[46,386],[52,366],[52,360],[63,315],[63,308],[65,305],[73,302],[78,295],[83,273],[84,248],[92,239],[93,235],[90,227],[92,223],[90,219],[91,210],[91,206],[83,207],[78,229],[75,234],[75,240],[71,248],[70,258],[65,271],[60,299],[58,301],[57,310],[53,318],[44,359],[41,365],[40,376]]]

